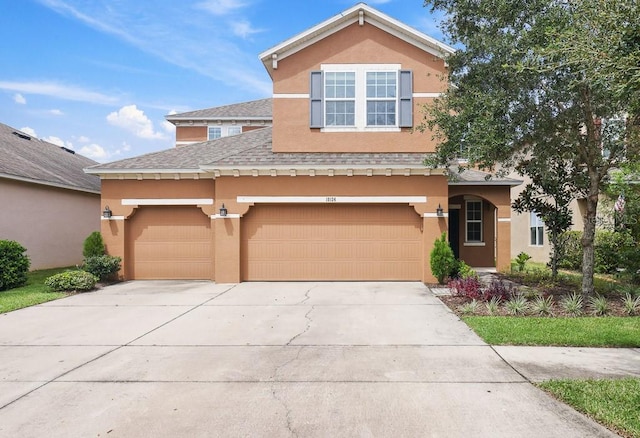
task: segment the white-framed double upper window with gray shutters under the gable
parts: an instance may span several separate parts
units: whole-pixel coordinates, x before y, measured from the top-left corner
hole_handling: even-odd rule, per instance
[[[399,64],[329,64],[311,72],[312,128],[389,131],[413,126],[413,75]]]

